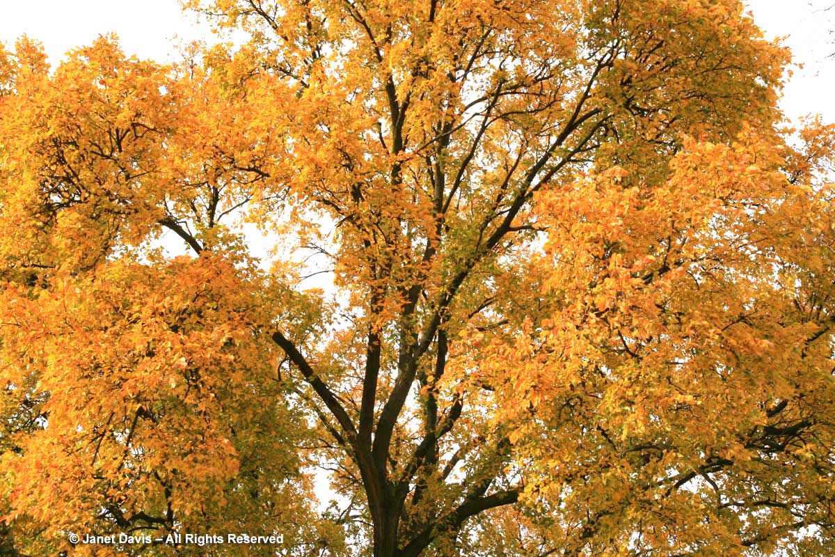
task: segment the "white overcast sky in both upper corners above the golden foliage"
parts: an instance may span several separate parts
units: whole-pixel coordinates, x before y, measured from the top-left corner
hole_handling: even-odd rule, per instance
[[[748,0],[746,5],[768,37],[785,37],[797,63],[786,89],[783,109],[791,117],[824,114],[835,121],[835,8],[821,11],[828,0]],[[835,3],[835,2],[831,2]],[[53,62],[68,49],[91,43],[100,33],[117,33],[127,53],[165,60],[172,40],[207,35],[180,11],[177,0],[0,0],[0,41],[13,43],[22,34],[41,41]]]

